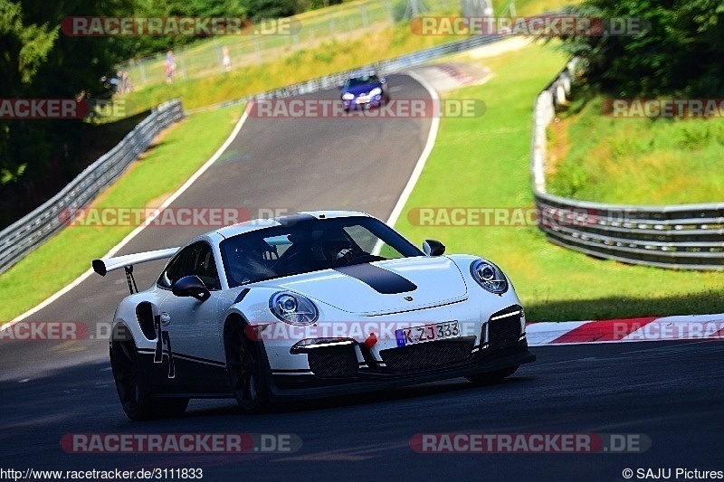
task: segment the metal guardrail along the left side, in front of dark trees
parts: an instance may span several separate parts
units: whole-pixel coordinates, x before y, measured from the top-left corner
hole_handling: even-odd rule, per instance
[[[179,99],[153,109],[117,146],[86,167],[61,192],[0,232],[0,273],[62,230],[71,210],[90,203],[150,146],[161,129],[183,117]]]

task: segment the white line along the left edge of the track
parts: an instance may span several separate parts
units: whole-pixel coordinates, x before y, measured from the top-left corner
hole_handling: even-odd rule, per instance
[[[116,254],[117,252],[119,252],[119,250],[121,250],[124,246],[126,246],[133,238],[135,238],[136,236],[138,236],[138,233],[139,233],[139,232],[142,232],[142,231],[144,230],[144,228],[146,228],[146,226],[148,226],[148,224],[150,224],[151,222],[153,222],[153,220],[157,218],[158,214],[159,214],[161,211],[163,211],[163,210],[164,210],[165,208],[167,208],[171,203],[173,203],[174,201],[176,201],[176,199],[178,198],[178,196],[180,196],[181,194],[184,194],[184,192],[186,191],[186,189],[188,189],[189,187],[191,187],[191,184],[194,184],[194,183],[195,183],[195,180],[198,179],[199,177],[201,177],[201,175],[203,175],[203,174],[206,172],[206,170],[207,170],[209,167],[211,167],[211,165],[213,165],[214,162],[216,162],[216,160],[217,160],[222,154],[224,154],[224,151],[226,150],[226,148],[231,145],[231,143],[233,142],[233,139],[239,134],[239,131],[242,130],[243,123],[246,122],[246,118],[247,118],[247,117],[249,117],[249,116],[248,116],[248,114],[246,113],[246,110],[244,109],[244,113],[243,113],[242,118],[240,118],[240,119],[239,119],[239,122],[236,123],[236,126],[233,128],[233,131],[232,131],[232,133],[229,135],[229,137],[226,138],[226,140],[224,141],[224,144],[223,144],[221,147],[219,147],[219,148],[216,150],[216,152],[214,152],[214,155],[211,156],[211,157],[209,157],[209,159],[205,162],[205,164],[202,165],[201,167],[199,167],[198,170],[194,173],[194,175],[192,175],[191,177],[189,177],[189,178],[186,180],[186,183],[182,184],[181,187],[179,187],[174,194],[171,194],[171,195],[168,197],[168,199],[167,199],[164,203],[162,203],[162,204],[157,208],[157,210],[155,210],[154,213],[151,214],[151,216],[149,216],[149,217],[147,218],[147,220],[146,220],[143,224],[141,224],[140,226],[138,226],[138,227],[137,227],[135,230],[133,230],[132,232],[129,232],[129,235],[126,236],[125,238],[123,238],[123,240],[121,240],[121,241],[120,241],[118,244],[116,244],[114,247],[112,247],[112,248],[110,249],[110,251],[108,251],[105,255],[103,255],[103,258],[110,258],[110,257],[113,256],[114,254]],[[33,315],[33,314],[37,313],[38,311],[40,311],[41,309],[43,309],[44,307],[47,307],[48,305],[50,305],[50,304],[51,304],[53,301],[55,301],[56,299],[61,298],[64,294],[66,294],[66,293],[67,293],[68,291],[70,291],[72,288],[75,288],[75,287],[77,287],[78,285],[80,285],[80,284],[81,284],[85,279],[87,279],[92,273],[93,273],[93,270],[92,270],[92,269],[88,269],[88,270],[85,271],[83,274],[81,274],[81,276],[79,276],[78,278],[76,278],[76,279],[74,279],[73,281],[71,281],[70,284],[66,285],[66,286],[65,286],[64,288],[62,288],[60,291],[57,291],[55,294],[53,294],[50,298],[46,298],[43,302],[41,302],[41,303],[40,303],[39,305],[37,305],[36,307],[33,307],[33,308],[27,310],[27,311],[24,312],[22,315],[20,315],[20,316],[18,316],[18,317],[15,317],[13,320],[8,321],[7,323],[5,323],[5,325],[0,326],[0,330],[4,330],[5,328],[8,328],[8,327],[10,327],[10,326],[13,326],[15,323],[17,323],[17,322],[19,322],[19,321],[22,321],[22,320],[24,320],[26,317],[30,317],[31,315]]]

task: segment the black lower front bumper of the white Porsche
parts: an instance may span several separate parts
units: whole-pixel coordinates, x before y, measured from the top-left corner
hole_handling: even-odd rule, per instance
[[[348,339],[312,348],[301,355],[306,357],[308,368],[269,371],[271,395],[310,399],[369,392],[495,372],[535,361],[525,335],[525,314],[518,304],[491,314],[479,329],[479,334],[463,333],[404,347],[387,342],[367,348]]]

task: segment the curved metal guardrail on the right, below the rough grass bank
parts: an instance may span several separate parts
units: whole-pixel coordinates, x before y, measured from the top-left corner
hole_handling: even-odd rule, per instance
[[[670,269],[724,269],[724,203],[591,203],[546,191],[546,128],[567,102],[576,61],[536,98],[531,177],[548,241],[596,258]]]

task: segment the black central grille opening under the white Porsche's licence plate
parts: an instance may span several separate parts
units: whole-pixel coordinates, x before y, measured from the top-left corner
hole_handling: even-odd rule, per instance
[[[390,348],[379,352],[391,372],[423,370],[468,360],[475,345],[475,337],[440,340],[417,345]]]

